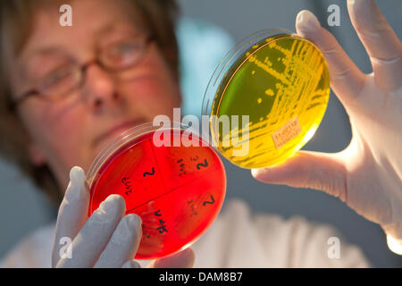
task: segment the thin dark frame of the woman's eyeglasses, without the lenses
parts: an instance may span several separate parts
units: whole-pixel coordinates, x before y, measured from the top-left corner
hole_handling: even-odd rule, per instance
[[[147,47],[153,42],[155,41],[155,34],[150,34],[146,37],[145,40],[145,45],[144,45],[144,51],[146,51]],[[138,57],[138,60],[135,61],[134,63],[131,63],[130,66],[124,67],[119,71],[112,71],[112,72],[121,72],[121,71],[126,71],[126,70],[130,70],[130,68],[134,67],[137,63],[139,63],[141,60],[141,57]],[[86,72],[88,70],[88,67],[91,66],[92,64],[96,64],[100,67],[102,67],[105,71],[109,71],[111,69],[108,69],[104,63],[102,63],[102,61],[99,60],[99,55],[96,56],[96,59],[93,59],[91,61],[88,61],[87,63],[82,63],[80,64],[77,68],[78,71],[80,71],[80,81],[77,84],[76,87],[71,88],[71,90],[66,91],[66,94],[70,93],[72,90],[75,89],[80,89],[82,88],[82,86],[84,85],[85,81],[86,81]],[[39,95],[41,94],[40,90],[38,90],[38,88],[32,88],[30,90],[28,90],[27,92],[24,92],[20,97],[18,97],[17,99],[13,99],[13,98],[9,98],[9,108],[10,110],[14,111],[18,105],[21,105],[21,103],[23,101],[25,101],[27,98],[29,97],[34,97],[34,96],[38,96],[41,99],[46,100],[44,97],[40,97]],[[51,101],[51,100],[49,100]]]

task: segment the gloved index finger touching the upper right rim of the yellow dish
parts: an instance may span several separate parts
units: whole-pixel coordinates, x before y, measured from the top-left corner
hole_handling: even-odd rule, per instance
[[[330,71],[331,88],[347,108],[356,101],[364,87],[364,73],[350,60],[332,34],[321,27],[313,13],[300,11],[296,29],[300,37],[310,39],[322,51]]]

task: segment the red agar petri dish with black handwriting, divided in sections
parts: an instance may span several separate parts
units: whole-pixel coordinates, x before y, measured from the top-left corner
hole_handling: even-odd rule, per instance
[[[136,259],[172,255],[194,243],[219,214],[226,174],[214,148],[177,122],[147,123],[113,139],[87,176],[88,216],[112,194],[138,214],[143,235]]]

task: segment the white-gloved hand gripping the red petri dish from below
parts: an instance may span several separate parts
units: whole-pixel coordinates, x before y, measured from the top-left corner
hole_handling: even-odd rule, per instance
[[[140,267],[132,258],[142,236],[141,218],[138,214],[124,215],[125,201],[119,195],[106,198],[88,218],[89,193],[84,181],[84,171],[77,166],[71,168],[70,183],[57,217],[52,266]],[[71,256],[63,251],[66,250],[64,237],[72,240]],[[156,259],[147,267],[180,268],[193,264],[194,252],[187,248],[173,256]]]

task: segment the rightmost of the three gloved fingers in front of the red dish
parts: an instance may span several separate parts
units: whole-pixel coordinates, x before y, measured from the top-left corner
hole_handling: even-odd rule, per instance
[[[124,262],[132,259],[137,253],[141,236],[141,218],[138,214],[124,216],[113,232],[112,239],[107,243],[101,257],[97,260],[95,267],[121,267]]]

